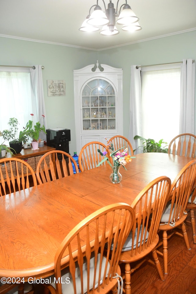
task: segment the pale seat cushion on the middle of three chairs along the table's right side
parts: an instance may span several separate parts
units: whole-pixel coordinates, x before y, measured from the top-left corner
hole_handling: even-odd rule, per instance
[[[144,232],[143,232],[143,236],[142,236],[142,244],[144,243],[144,237],[145,237],[145,230],[146,227],[144,227]],[[140,240],[141,240],[141,231],[142,231],[142,226],[140,226],[140,231],[139,231],[139,242],[138,242],[138,247],[140,246]],[[134,248],[136,248],[136,244],[137,244],[137,235],[138,235],[138,227],[135,229],[135,236],[134,236]],[[148,231],[146,232],[146,238],[145,238],[145,242],[148,239]],[[132,231],[129,233],[124,245],[123,245],[123,249],[122,251],[129,251],[132,249],[132,240],[133,240],[133,236],[132,236]],[[113,243],[111,245],[111,250],[113,250]]]

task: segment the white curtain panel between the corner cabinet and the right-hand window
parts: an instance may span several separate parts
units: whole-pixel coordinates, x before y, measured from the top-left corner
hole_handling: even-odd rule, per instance
[[[131,85],[130,85],[130,128],[129,141],[133,149],[137,149],[141,142],[134,140],[135,135],[142,136],[142,108],[141,108],[141,72],[136,65],[131,66]],[[139,152],[139,150],[137,150]],[[137,153],[135,152],[135,153]]]

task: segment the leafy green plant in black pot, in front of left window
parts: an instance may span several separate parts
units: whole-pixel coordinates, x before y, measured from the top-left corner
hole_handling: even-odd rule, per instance
[[[22,150],[22,142],[26,142],[28,136],[26,130],[20,131],[18,135],[18,120],[15,117],[9,119],[9,130],[3,130],[2,136],[4,140],[9,141],[9,146],[14,150],[14,153],[20,153]]]

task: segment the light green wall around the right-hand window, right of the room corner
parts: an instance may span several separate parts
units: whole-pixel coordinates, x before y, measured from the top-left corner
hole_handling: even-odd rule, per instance
[[[99,51],[99,56],[100,63],[123,69],[123,135],[128,137],[130,125],[130,66],[178,62],[188,58],[196,61],[196,31]]]

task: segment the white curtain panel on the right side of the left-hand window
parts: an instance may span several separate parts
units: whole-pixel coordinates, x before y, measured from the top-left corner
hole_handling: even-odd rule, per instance
[[[35,96],[34,102],[32,102],[33,108],[36,109],[36,122],[40,122],[41,126],[44,125],[45,129],[47,129],[47,121],[46,118],[44,118],[42,115],[46,115],[46,109],[45,109],[45,101],[44,101],[44,95],[43,95],[43,81],[42,81],[42,68],[41,65],[36,65],[35,70],[30,69],[31,74],[31,81],[32,81],[32,90]],[[40,139],[46,141],[46,134],[43,133],[43,131],[40,134]]]

